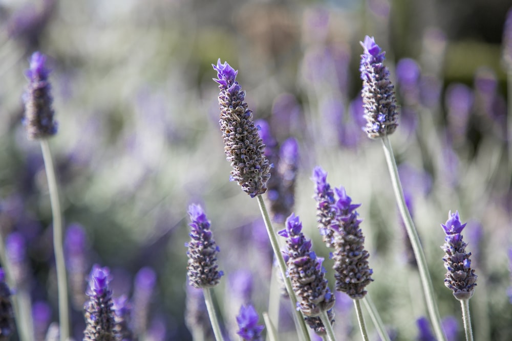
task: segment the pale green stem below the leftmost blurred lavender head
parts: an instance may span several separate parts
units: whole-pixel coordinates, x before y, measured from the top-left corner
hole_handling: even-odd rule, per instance
[[[52,204],[53,250],[55,253],[55,267],[57,269],[60,340],[67,341],[69,338],[68,281],[66,279],[66,263],[64,259],[64,247],[62,245],[63,229],[60,200],[50,146],[48,145],[48,141],[45,139],[41,139],[40,143],[42,158],[45,161],[48,189],[50,191],[50,202]]]

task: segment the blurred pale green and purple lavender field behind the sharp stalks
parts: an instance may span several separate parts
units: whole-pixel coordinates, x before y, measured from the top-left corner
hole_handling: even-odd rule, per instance
[[[25,266],[21,280],[42,311],[34,309],[40,333],[58,314],[44,164],[21,123],[24,73],[34,51],[46,54],[52,69],[59,132],[50,144],[63,215],[86,236],[73,293],[77,340],[84,328],[79,287],[85,289],[95,263],[111,269],[115,297],[132,299],[144,339],[191,340],[185,315],[196,328],[202,321],[185,309],[187,300],[194,303],[184,247],[193,202],[205,208],[221,249],[225,277],[215,297],[226,333],[232,335],[241,302],[250,300],[260,314],[268,309],[271,249],[257,202],[229,181],[211,80],[218,58],[239,70],[254,118],[269,122],[276,141],[298,141],[294,212],[326,257],[330,286],[332,261],[312,199],[315,165],[362,203],[375,280],[369,292],[396,339],[416,339],[425,315],[417,271],[380,142],[360,129],[359,41],[370,35],[386,51],[397,85],[402,116],[391,143],[440,313],[452,339],[463,339],[459,303],[443,285],[440,248],[440,223],[459,210],[479,276],[471,300],[475,337],[510,340],[512,161],[502,62],[510,6],[506,0],[0,0],[0,225],[4,238],[16,233],[22,245],[10,257]],[[281,339],[293,340],[282,303]],[[338,303],[340,339],[359,339],[350,302]],[[377,339],[368,316],[367,323]]]

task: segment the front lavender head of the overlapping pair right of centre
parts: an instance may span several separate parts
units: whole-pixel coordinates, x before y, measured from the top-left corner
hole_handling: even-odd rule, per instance
[[[336,188],[336,223],[332,225],[334,234],[333,260],[336,273],[336,290],[346,292],[352,299],[363,298],[365,287],[373,281],[373,270],[368,264],[370,254],[364,248],[365,237],[362,235],[355,211],[360,204],[353,204],[345,188]]]

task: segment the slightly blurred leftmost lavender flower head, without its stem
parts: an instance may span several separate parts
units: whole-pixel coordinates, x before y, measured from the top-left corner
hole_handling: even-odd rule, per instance
[[[25,102],[24,124],[31,140],[45,139],[57,133],[52,108],[51,85],[48,80],[50,71],[46,67],[46,56],[34,52],[30,59],[30,69],[26,75],[29,84],[23,96]]]

